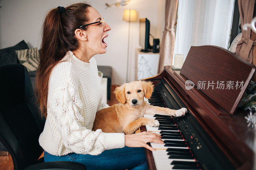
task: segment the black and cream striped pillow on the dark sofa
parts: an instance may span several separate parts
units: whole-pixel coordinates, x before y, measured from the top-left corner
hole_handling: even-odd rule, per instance
[[[28,71],[36,71],[39,64],[37,48],[15,50],[19,63],[27,67]]]

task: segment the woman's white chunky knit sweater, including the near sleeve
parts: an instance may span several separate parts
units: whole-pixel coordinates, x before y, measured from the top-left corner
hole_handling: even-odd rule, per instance
[[[65,60],[65,61],[64,61]],[[95,114],[104,107],[95,59],[79,60],[71,51],[52,70],[47,119],[39,144],[52,155],[98,155],[124,147],[124,134],[92,131]]]

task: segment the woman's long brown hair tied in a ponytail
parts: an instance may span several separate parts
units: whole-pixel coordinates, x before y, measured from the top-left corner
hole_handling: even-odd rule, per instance
[[[79,47],[75,30],[88,21],[86,13],[90,6],[85,3],[72,4],[66,7],[64,12],[54,8],[45,17],[35,81],[36,104],[39,104],[42,117],[47,116],[48,81],[51,71],[69,50],[73,51]],[[86,30],[87,27],[81,29]]]

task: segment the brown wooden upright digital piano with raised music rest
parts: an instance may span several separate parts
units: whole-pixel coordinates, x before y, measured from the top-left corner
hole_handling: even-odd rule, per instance
[[[188,109],[181,117],[144,115],[160,126],[140,131],[160,134],[164,141],[148,143],[156,149],[145,149],[148,169],[252,169],[254,131],[244,118],[249,111],[238,105],[254,73],[254,65],[224,48],[192,46],[180,71],[165,66],[143,79],[155,85],[151,105]]]

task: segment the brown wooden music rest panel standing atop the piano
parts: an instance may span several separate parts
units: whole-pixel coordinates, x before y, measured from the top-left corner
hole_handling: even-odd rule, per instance
[[[221,47],[191,46],[180,73],[220,107],[234,114],[255,66]]]

